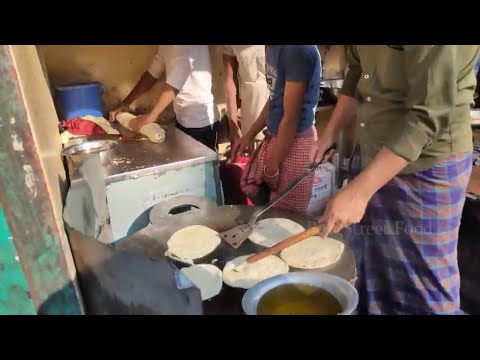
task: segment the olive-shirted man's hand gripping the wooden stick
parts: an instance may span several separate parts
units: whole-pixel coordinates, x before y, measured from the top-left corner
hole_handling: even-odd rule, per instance
[[[323,224],[320,232],[322,238],[327,237],[332,231],[334,233],[362,220],[370,198],[362,196],[355,186],[350,184],[340,190],[327,204],[327,208],[319,219]]]

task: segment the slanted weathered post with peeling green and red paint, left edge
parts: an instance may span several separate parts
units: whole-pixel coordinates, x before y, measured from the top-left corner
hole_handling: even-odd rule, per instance
[[[9,45],[0,45],[0,168],[0,202],[37,312],[80,314]]]

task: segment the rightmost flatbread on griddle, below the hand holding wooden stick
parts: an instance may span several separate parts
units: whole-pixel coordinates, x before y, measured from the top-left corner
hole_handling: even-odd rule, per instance
[[[344,249],[341,241],[312,236],[286,248],[280,257],[293,268],[319,269],[336,263]]]

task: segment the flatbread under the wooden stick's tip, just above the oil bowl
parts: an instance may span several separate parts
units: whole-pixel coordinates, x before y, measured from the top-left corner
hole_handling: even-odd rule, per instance
[[[260,281],[288,273],[288,265],[277,256],[267,256],[248,264],[245,261],[249,256],[240,256],[225,264],[223,268],[225,284],[234,288],[250,289]]]

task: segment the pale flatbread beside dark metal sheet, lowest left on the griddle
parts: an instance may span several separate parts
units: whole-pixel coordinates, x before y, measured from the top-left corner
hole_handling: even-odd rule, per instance
[[[215,265],[200,264],[180,270],[197,288],[203,300],[211,299],[222,291],[222,271]]]

